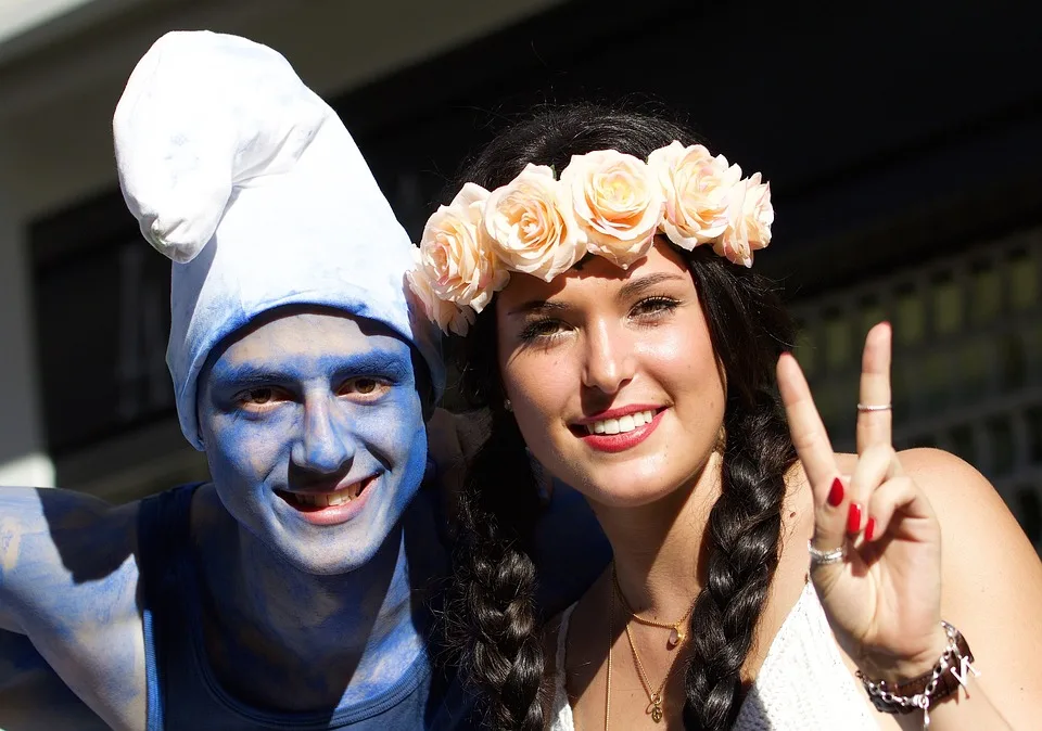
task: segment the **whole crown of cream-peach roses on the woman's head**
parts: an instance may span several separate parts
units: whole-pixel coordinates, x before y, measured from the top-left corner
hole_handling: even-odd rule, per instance
[[[549,282],[587,254],[626,269],[656,233],[751,267],[773,222],[770,183],[700,144],[674,141],[647,162],[599,150],[572,156],[560,179],[529,165],[491,193],[465,184],[428,220],[407,278],[443,332],[466,335],[511,271]]]

